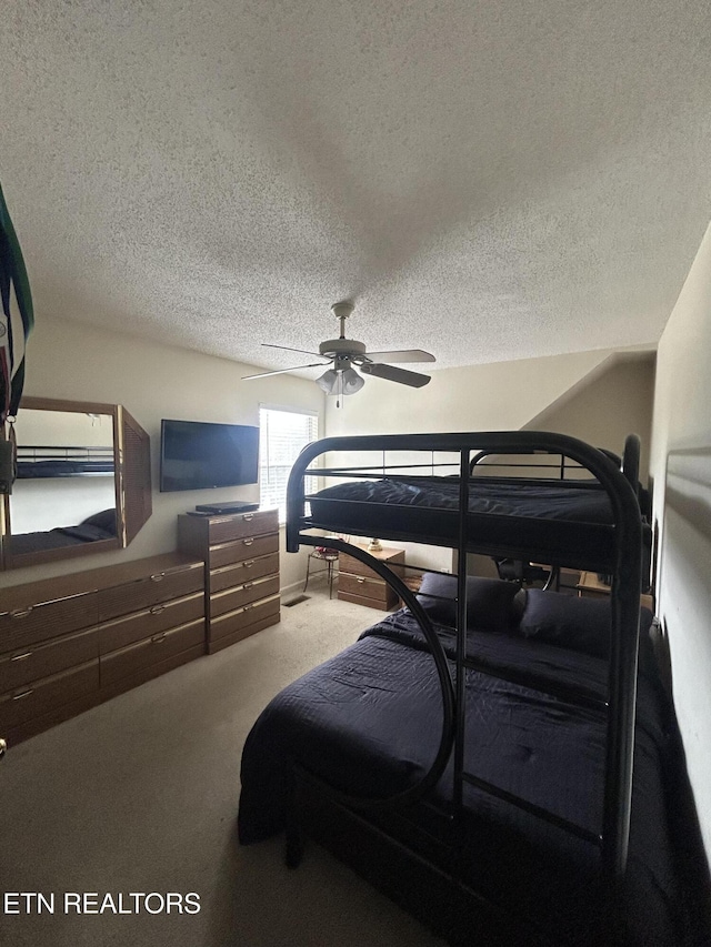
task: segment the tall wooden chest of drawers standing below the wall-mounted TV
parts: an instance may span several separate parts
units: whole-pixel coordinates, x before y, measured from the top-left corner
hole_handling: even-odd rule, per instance
[[[276,510],[178,517],[178,546],[206,562],[208,652],[276,625],[280,617]]]

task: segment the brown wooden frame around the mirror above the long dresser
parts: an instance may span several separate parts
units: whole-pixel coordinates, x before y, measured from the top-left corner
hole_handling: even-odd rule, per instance
[[[59,546],[56,550],[39,550],[12,555],[11,494],[6,494],[0,506],[0,568],[24,568],[82,555],[112,552],[128,546],[152,512],[150,439],[148,434],[120,404],[26,395],[20,402],[19,413],[22,409],[108,414],[111,416],[113,424],[117,535],[116,538],[94,540],[76,546]]]

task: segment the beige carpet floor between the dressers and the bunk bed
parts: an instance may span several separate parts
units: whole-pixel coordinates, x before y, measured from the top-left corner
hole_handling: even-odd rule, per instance
[[[313,844],[292,872],[281,838],[237,843],[240,754],[254,718],[380,615],[329,602],[323,588],[311,583],[309,601],[283,607],[279,625],[10,749],[0,763],[0,887],[53,894],[54,913],[3,897],[1,944],[442,944]],[[118,908],[118,893],[133,891],[194,891],[200,911],[167,914],[153,898],[160,913],[64,913],[66,893],[97,893],[96,905],[108,893]]]

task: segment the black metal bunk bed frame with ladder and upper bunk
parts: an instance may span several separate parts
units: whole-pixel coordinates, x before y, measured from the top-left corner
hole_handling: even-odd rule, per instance
[[[382,454],[383,461],[365,467],[313,466],[318,457],[328,455],[330,461],[341,451],[361,456],[364,452],[375,451]],[[394,465],[393,472],[389,473],[384,457],[398,451],[408,455],[430,452],[430,476],[422,476],[419,470],[412,474],[410,465],[402,464]],[[540,478],[517,478],[515,483],[497,478],[497,484],[489,482],[482,491],[470,475],[472,459],[480,452],[563,455],[588,470],[592,480],[557,483],[551,487],[550,481]],[[458,455],[458,473],[442,476],[442,457],[451,453]],[[475,925],[482,944],[635,943],[629,939],[625,917],[629,895],[625,895],[625,887],[640,591],[643,551],[650,545],[649,524],[640,511],[638,470],[639,440],[634,435],[625,442],[622,470],[612,457],[597,449],[575,439],[543,432],[336,437],[303,451],[289,482],[287,548],[296,552],[300,545],[326,543],[359,558],[392,585],[421,629],[428,658],[433,658],[439,683],[441,727],[429,768],[425,766],[422,772],[420,767],[417,778],[405,780],[404,786],[395,786],[391,782],[388,784],[390,789],[384,789],[383,783],[379,793],[364,790],[362,785],[353,789],[339,786],[328,776],[317,775],[318,766],[310,765],[308,754],[302,758],[294,757],[290,762],[291,782],[286,804],[289,864],[298,864],[301,834],[306,830],[350,860],[452,943],[469,943],[473,936],[472,925]],[[304,481],[314,475],[344,482],[337,487],[307,494]],[[410,591],[400,575],[361,547],[334,537],[334,533],[378,535],[455,550],[453,642],[445,642],[443,646],[441,629],[433,625],[423,600]],[[557,683],[545,673],[541,675],[540,669],[531,674],[525,668],[515,667],[515,662],[502,668],[488,661],[485,648],[483,657],[477,654],[475,648],[472,651],[467,631],[470,582],[467,554],[472,552],[591,570],[612,576],[607,686],[597,691],[592,688],[592,692],[583,687],[577,692],[574,682]],[[398,619],[393,621],[398,623]],[[471,672],[544,692],[553,701],[578,705],[583,713],[605,715],[599,830],[579,826],[468,770],[465,742],[471,722],[467,723],[467,701],[468,674]],[[451,798],[442,808],[439,803],[433,804],[431,797],[433,787],[440,784],[445,772]],[[362,783],[360,779],[357,782]],[[472,788],[533,820],[548,824],[555,833],[569,834],[583,845],[599,849],[599,870],[595,868],[594,880],[589,888],[590,904],[594,905],[591,917],[579,925],[572,918],[572,928],[568,917],[549,935],[544,917],[531,924],[530,904],[528,915],[519,923],[491,904],[487,895],[477,893],[468,875],[472,866],[468,864],[461,843],[465,795]],[[407,814],[414,805],[419,809],[417,824],[409,822],[407,815],[399,823],[400,814]],[[433,812],[439,815],[432,815]],[[242,840],[251,840],[249,836],[250,830],[246,828]],[[388,853],[387,857],[383,857],[383,852]],[[433,893],[437,893],[435,897]],[[643,937],[640,943],[645,943]]]

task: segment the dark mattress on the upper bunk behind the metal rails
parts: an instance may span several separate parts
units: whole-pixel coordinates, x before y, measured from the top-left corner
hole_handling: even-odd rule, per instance
[[[309,526],[431,545],[458,542],[458,477],[349,481],[308,500]],[[528,560],[611,572],[612,523],[610,500],[597,482],[469,481],[468,536],[475,552],[509,555],[525,550]],[[649,547],[647,524],[643,536]]]

